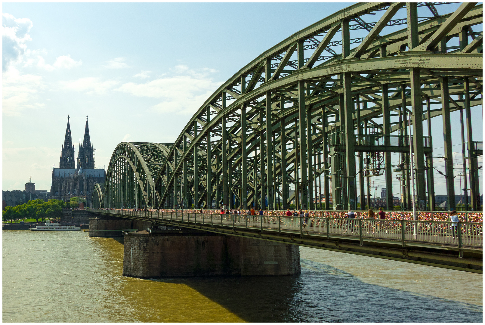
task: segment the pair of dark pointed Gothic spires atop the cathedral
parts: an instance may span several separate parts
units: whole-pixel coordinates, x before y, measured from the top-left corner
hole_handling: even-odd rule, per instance
[[[86,116],[86,127],[84,129],[84,140],[81,145],[81,140],[79,142],[78,149],[78,166],[79,170],[82,169],[94,169],[94,148],[91,145],[91,137],[89,136],[89,125],[88,117]],[[69,115],[67,115],[67,127],[65,130],[64,145],[61,150],[61,160],[59,162],[59,168],[76,168],[74,159],[74,146],[72,145],[71,137],[71,125],[69,123]]]

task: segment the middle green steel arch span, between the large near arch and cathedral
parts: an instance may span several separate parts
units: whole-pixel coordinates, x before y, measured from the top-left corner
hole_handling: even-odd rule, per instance
[[[155,179],[172,144],[122,142],[113,151],[106,171],[104,208],[152,206]]]

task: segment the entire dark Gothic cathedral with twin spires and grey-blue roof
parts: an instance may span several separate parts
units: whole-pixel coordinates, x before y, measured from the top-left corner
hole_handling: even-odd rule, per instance
[[[76,164],[76,165],[75,165]],[[69,201],[71,197],[78,196],[86,199],[86,206],[91,206],[91,196],[96,183],[104,183],[106,172],[95,169],[94,148],[89,136],[88,117],[84,139],[79,142],[78,158],[74,159],[74,146],[72,145],[71,126],[69,115],[65,130],[64,145],[61,148],[59,168],[52,169],[52,182],[50,183],[50,198]]]

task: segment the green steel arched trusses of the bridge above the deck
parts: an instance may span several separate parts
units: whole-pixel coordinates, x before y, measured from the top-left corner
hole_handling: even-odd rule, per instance
[[[470,108],[482,105],[482,15],[476,3],[357,3],[294,33],[224,82],[174,144],[118,145],[103,206],[286,209],[294,200],[328,210],[331,197],[333,209],[356,209],[364,179],[384,174],[388,209],[396,176],[409,209],[416,172],[418,209],[434,210],[423,122],[429,135],[431,118],[443,120],[454,197],[450,113],[465,111],[471,205],[480,210]]]

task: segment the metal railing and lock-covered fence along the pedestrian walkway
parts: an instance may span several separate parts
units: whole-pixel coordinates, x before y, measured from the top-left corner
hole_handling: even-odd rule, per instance
[[[483,247],[483,224],[476,222],[414,221],[388,219],[355,219],[328,217],[265,216],[247,214],[212,214],[194,212],[94,210],[101,213],[137,218],[178,221],[187,225],[230,227],[261,232],[330,237],[353,237],[360,240],[381,239],[408,242],[447,244],[458,247]]]

